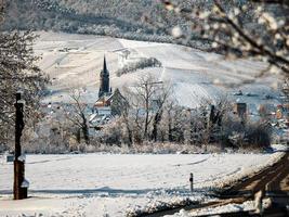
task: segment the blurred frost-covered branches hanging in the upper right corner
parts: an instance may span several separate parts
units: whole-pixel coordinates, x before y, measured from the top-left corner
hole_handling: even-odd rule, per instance
[[[202,40],[227,58],[253,58],[289,75],[288,1],[213,0],[203,7],[180,7],[162,0],[165,8],[186,20],[191,34],[172,26],[175,40]]]

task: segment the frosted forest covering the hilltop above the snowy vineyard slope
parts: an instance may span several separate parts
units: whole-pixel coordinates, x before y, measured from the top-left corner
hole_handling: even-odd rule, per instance
[[[184,11],[193,4],[211,5],[210,1],[201,0],[176,0],[175,3]],[[210,41],[194,35],[186,18],[175,16],[155,0],[6,0],[5,4],[3,30],[102,35],[210,50]],[[174,26],[181,27],[188,38],[172,37]]]

